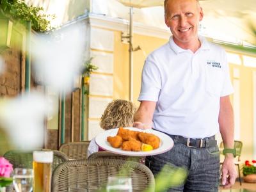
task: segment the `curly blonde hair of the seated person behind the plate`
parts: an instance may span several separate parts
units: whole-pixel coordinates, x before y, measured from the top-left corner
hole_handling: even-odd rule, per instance
[[[100,118],[100,127],[108,130],[116,127],[130,127],[133,124],[136,106],[128,100],[116,99],[110,102]]]

